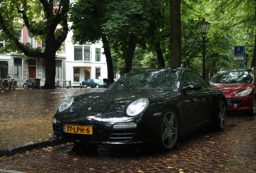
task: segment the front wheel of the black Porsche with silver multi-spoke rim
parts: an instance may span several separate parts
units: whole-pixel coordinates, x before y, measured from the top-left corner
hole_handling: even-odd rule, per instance
[[[178,139],[178,117],[172,109],[167,109],[159,124],[158,148],[161,151],[173,149]]]

